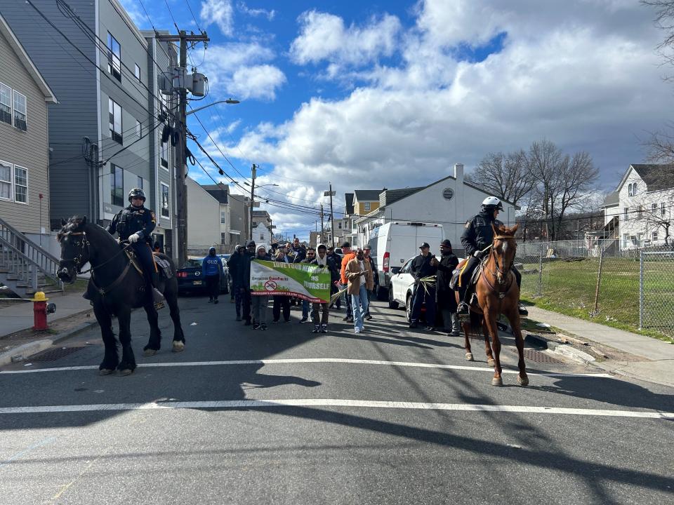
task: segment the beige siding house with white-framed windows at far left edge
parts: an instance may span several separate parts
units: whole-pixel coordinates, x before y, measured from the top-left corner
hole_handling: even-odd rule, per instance
[[[0,220],[45,247],[49,103],[54,93],[0,15]]]

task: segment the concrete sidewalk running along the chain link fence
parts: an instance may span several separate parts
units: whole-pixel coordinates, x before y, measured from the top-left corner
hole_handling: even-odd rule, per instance
[[[600,368],[619,375],[627,375],[635,379],[657,382],[674,386],[674,345],[662,340],[637,335],[624,330],[611,328],[583,319],[565,316],[557,312],[527,307],[529,317],[535,321],[548,323],[560,330],[573,333],[582,339],[612,347],[643,361],[604,361],[595,363]]]

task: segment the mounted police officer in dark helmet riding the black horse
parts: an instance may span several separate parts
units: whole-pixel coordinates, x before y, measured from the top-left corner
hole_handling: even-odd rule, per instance
[[[112,218],[107,231],[119,235],[122,241],[129,241],[133,252],[136,253],[147,285],[147,293],[152,302],[157,305],[164,301],[164,295],[157,290],[152,280],[154,260],[152,259],[152,230],[157,224],[157,218],[152,210],[145,208],[145,191],[133,188],[128,192],[128,201],[131,203]]]

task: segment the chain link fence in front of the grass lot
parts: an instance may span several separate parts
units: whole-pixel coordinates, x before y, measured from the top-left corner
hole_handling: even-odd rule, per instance
[[[521,242],[522,297],[597,323],[674,337],[674,252],[619,239]]]

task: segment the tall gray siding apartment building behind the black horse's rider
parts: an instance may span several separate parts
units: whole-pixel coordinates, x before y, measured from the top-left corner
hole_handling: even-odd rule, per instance
[[[161,144],[158,117],[169,101],[157,73],[175,50],[140,32],[118,0],[69,0],[72,13],[53,0],[32,3],[37,10],[0,0],[0,11],[59,97],[49,115],[52,228],[76,214],[107,224],[128,205],[128,191],[142,187],[171,253],[175,174]]]

